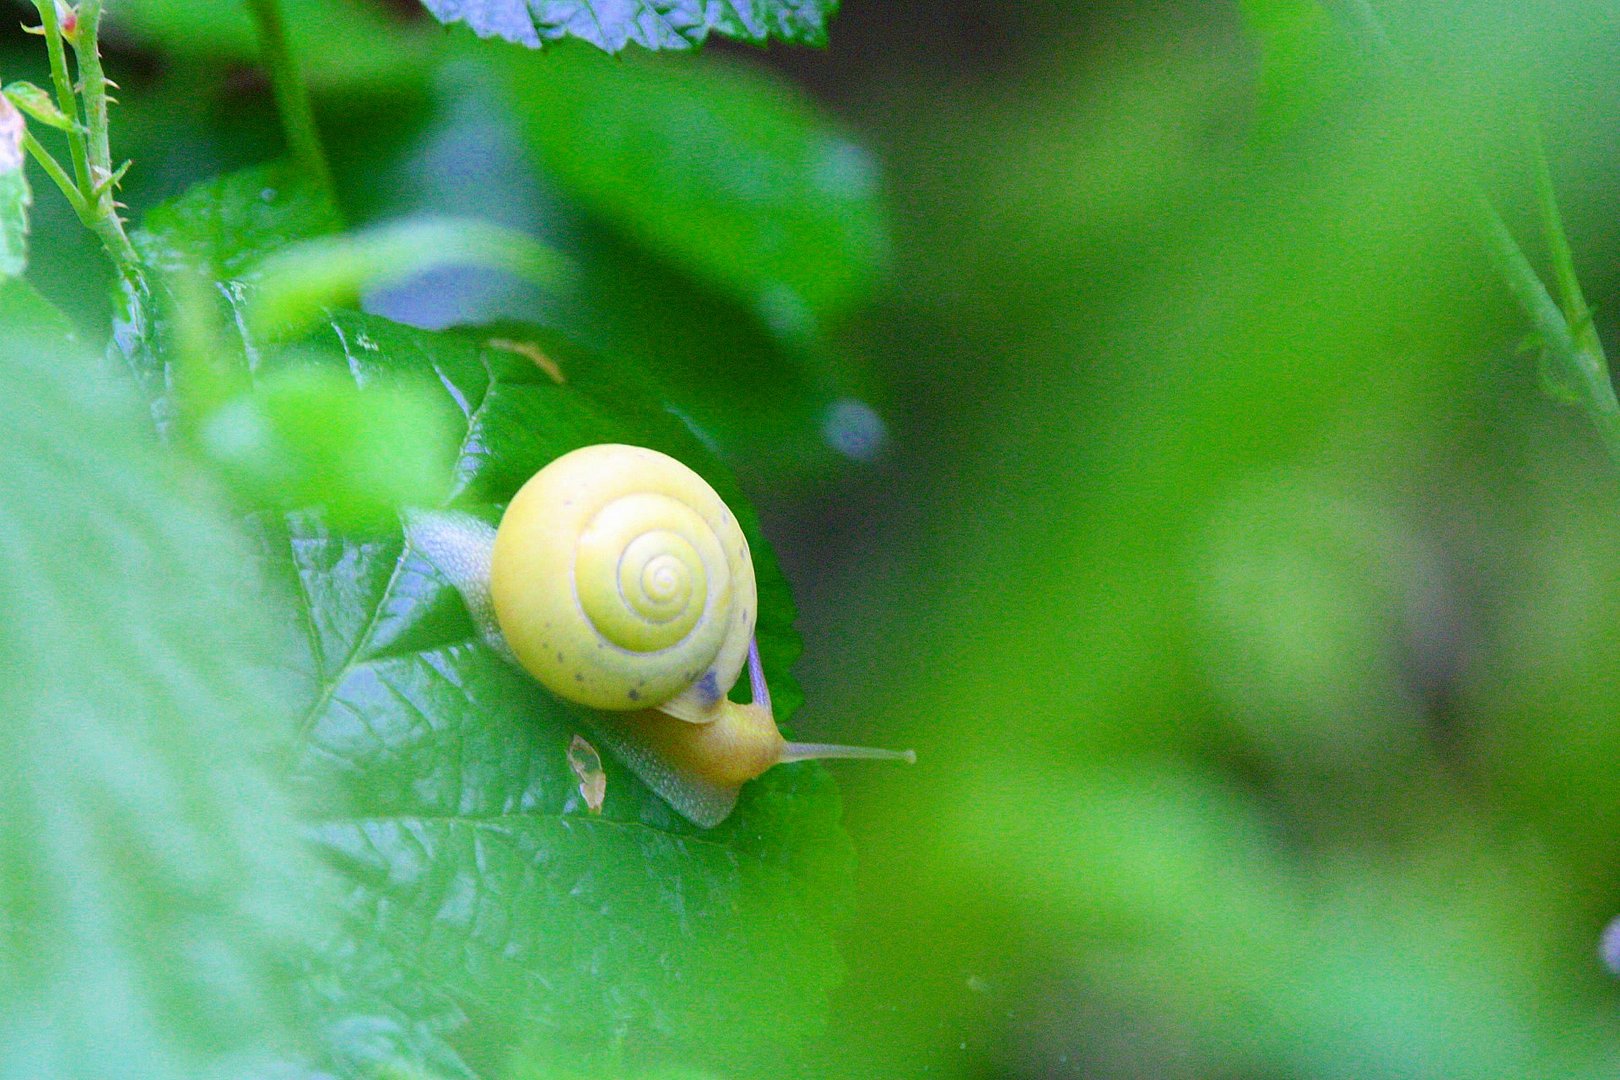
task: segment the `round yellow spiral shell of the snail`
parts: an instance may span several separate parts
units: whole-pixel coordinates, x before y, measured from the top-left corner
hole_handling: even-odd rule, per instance
[[[711,708],[753,633],[748,542],[708,483],[656,450],[565,453],[512,499],[491,589],[512,651],[596,709]]]

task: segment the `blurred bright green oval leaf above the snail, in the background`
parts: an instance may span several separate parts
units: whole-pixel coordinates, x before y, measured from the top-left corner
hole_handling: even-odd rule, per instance
[[[782,338],[813,338],[870,293],[886,238],[878,170],[786,83],[713,57],[557,49],[491,63],[559,185]]]

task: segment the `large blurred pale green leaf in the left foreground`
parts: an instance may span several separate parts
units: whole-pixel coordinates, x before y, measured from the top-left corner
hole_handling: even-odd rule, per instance
[[[245,1075],[321,897],[262,766],[290,638],[62,324],[0,283],[0,1077]]]

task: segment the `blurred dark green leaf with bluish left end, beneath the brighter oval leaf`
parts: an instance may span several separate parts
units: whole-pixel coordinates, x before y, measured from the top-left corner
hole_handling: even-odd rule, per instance
[[[543,176],[531,183],[517,141],[483,120],[497,92],[488,68],[468,68],[467,78],[470,86],[444,87],[424,146],[465,147],[478,175],[468,176],[460,157],[421,152],[382,181],[408,178],[416,194],[384,212],[494,212],[544,236],[564,253],[570,275],[561,287],[520,290],[484,274],[437,274],[371,293],[376,311],[436,327],[533,321],[556,330],[554,338],[640,368],[752,491],[784,492],[844,474],[850,460],[881,450],[883,423],[862,405],[868,387],[838,335],[787,343],[732,291],[653,257]]]

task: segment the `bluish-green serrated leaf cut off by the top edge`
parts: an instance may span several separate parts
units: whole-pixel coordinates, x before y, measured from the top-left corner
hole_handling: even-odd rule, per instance
[[[838,0],[423,0],[441,23],[530,49],[578,37],[606,52],[693,49],[710,34],[825,45]]]

